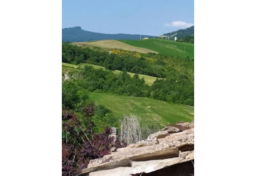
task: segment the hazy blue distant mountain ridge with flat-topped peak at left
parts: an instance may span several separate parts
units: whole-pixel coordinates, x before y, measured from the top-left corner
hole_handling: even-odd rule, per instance
[[[145,37],[153,37],[149,35],[141,35],[141,39]],[[139,40],[140,35],[133,34],[102,34],[83,30],[81,27],[71,27],[62,29],[62,42],[86,42],[99,41],[104,39],[134,39]]]

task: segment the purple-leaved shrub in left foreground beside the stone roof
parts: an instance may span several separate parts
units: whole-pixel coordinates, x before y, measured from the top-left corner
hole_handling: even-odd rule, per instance
[[[70,111],[62,111],[62,175],[75,175],[89,164],[90,159],[110,154],[112,147],[125,147],[125,143],[114,142],[109,137],[111,129],[105,128],[102,133],[94,133],[92,116],[94,104],[83,109],[83,120]]]

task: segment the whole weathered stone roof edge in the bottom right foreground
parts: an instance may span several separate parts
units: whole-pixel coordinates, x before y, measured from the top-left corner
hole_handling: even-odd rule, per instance
[[[139,172],[147,173],[161,169],[163,168],[162,166],[169,166],[171,163],[175,164],[176,162],[187,161],[186,159],[194,159],[194,151],[193,157],[187,158],[187,156],[184,157],[181,155],[181,151],[188,152],[188,150],[190,150],[189,152],[192,154],[191,150],[194,150],[194,127],[188,124],[185,125],[191,127],[191,129],[177,133],[169,133],[168,130],[159,131],[150,134],[148,139],[140,141],[137,145],[132,144],[125,148],[119,148],[117,151],[110,155],[105,155],[103,158],[92,159],[88,167],[82,170],[82,173],[89,174],[90,172],[97,171],[97,173],[99,173],[98,175],[100,175],[100,173],[103,173],[100,172],[101,170],[111,170],[116,167],[123,167],[127,172],[130,172],[130,169],[126,167],[132,167],[132,174]],[[172,128],[167,127],[166,129]],[[183,154],[185,155],[186,153]],[[159,161],[149,161],[151,159]],[[138,163],[140,161],[141,163]],[[142,163],[142,161],[148,163]],[[119,171],[119,169],[115,171]],[[124,172],[123,175],[125,174],[126,172]]]

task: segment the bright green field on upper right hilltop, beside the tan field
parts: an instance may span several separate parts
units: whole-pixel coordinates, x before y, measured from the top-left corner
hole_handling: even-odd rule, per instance
[[[188,57],[194,59],[194,44],[167,41],[165,39],[143,39],[141,41],[135,40],[119,40],[126,44],[143,47],[149,50],[154,50],[162,54],[178,56],[181,58]],[[184,51],[185,49],[185,51]]]

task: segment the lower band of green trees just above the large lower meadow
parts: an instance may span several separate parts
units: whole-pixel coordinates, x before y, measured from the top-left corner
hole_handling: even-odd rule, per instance
[[[148,86],[137,74],[131,77],[123,71],[119,75],[115,75],[112,71],[85,66],[81,72],[81,79],[77,79],[77,81],[80,82],[83,89],[90,92],[148,97],[167,102],[194,105],[194,84],[182,75],[170,79],[157,79],[152,86]]]

